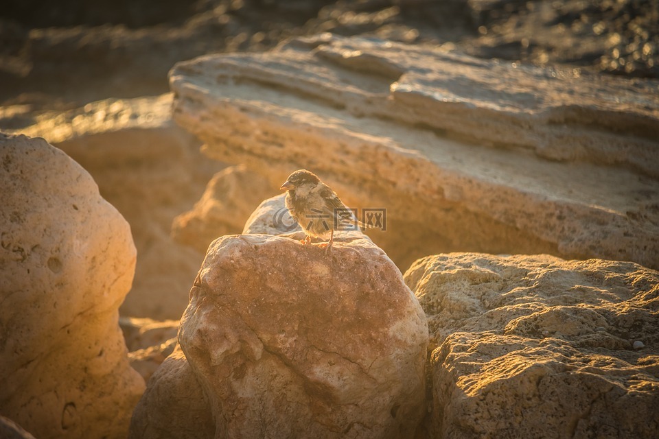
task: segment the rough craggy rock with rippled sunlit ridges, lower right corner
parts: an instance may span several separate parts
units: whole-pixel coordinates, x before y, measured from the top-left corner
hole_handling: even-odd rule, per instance
[[[432,437],[659,436],[658,272],[454,253],[405,279],[439,346]]]

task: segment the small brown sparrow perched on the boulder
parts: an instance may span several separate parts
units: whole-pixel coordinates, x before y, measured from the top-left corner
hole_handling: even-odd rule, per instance
[[[286,189],[286,208],[306,235],[302,244],[311,244],[312,237],[329,237],[329,241],[319,244],[327,253],[332,249],[335,228],[343,224],[343,230],[355,230],[346,229],[345,224],[359,223],[336,192],[311,171],[294,171],[279,189]]]

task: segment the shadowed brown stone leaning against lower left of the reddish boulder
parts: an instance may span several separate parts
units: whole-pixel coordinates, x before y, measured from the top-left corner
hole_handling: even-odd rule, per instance
[[[130,420],[130,439],[220,437],[201,385],[176,345],[149,380]]]

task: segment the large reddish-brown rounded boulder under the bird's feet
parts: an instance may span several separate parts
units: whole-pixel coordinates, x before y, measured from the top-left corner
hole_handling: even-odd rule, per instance
[[[268,201],[284,208],[281,195]],[[331,254],[272,235],[213,241],[178,338],[215,437],[399,438],[426,412],[427,331],[386,254],[339,232]],[[146,418],[165,391],[150,389],[169,385],[163,368],[184,367],[167,359],[152,377],[132,438],[154,437]]]

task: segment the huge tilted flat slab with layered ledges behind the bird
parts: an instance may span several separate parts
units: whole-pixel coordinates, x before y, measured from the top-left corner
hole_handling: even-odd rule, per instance
[[[174,119],[272,185],[315,171],[399,267],[453,250],[659,268],[654,82],[321,34],[170,73]]]

